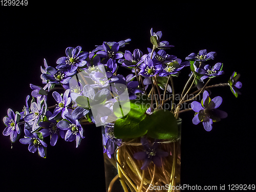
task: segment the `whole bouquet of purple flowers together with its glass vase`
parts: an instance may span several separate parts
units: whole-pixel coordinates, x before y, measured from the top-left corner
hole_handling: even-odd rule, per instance
[[[83,129],[95,123],[102,127],[107,191],[179,191],[180,114],[194,111],[191,122],[202,122],[211,131],[212,124],[227,113],[218,109],[222,97],[211,99],[207,90],[227,86],[238,97],[242,83],[240,74],[233,72],[226,83],[208,85],[224,74],[223,63],[207,63],[216,52],[200,50],[182,61],[166,53],[174,46],[161,37],[161,31],[151,29],[153,47],[146,54],[139,49],[121,52],[131,41],[126,39],[103,42],[91,52],[68,47],[56,67],[44,60],[41,79],[45,86],[30,84],[33,91],[24,109],[15,113],[8,109],[3,134],[11,142],[23,135],[19,142],[46,158],[49,143],[45,137],[50,136],[51,146],[61,137],[78,147]],[[183,68],[190,68],[190,73],[177,91],[174,81]],[[52,101],[55,104],[49,106]],[[108,175],[108,169],[114,176]],[[122,189],[115,189],[116,185]]]

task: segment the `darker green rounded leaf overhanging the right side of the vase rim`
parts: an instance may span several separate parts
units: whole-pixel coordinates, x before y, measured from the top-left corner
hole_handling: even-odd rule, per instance
[[[167,110],[156,110],[147,116],[143,125],[147,127],[147,135],[155,139],[178,138],[178,125],[174,114]]]

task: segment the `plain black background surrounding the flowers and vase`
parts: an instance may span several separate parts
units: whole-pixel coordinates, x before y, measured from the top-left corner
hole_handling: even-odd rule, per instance
[[[84,1],[85,2],[85,1]],[[181,114],[181,179],[188,185],[255,184],[254,56],[252,5],[152,2],[81,1],[32,2],[28,6],[0,7],[1,118],[8,108],[21,111],[29,84],[44,86],[40,66],[46,58],[49,66],[65,56],[67,47],[81,46],[91,51],[103,41],[131,38],[130,45],[147,53],[151,47],[150,29],[162,31],[161,40],[175,47],[168,54],[185,60],[192,52],[207,49],[217,56],[210,64],[223,62],[225,74],[211,83],[227,82],[233,71],[241,74],[242,95],[234,97],[229,88],[212,89],[211,98],[223,97],[219,109],[228,118],[214,123],[211,132],[191,122],[194,113]],[[181,89],[189,69],[175,79]],[[2,123],[1,130],[5,128]],[[1,132],[2,132],[1,131]],[[28,151],[28,145],[0,135],[1,191],[104,191],[104,165],[101,130],[94,125],[84,130],[78,148],[75,142],[60,139],[47,158]]]

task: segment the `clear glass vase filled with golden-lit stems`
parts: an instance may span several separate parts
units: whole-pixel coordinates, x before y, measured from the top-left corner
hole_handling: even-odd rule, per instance
[[[113,154],[107,150],[110,142],[104,145],[106,191],[180,191],[181,122],[181,119],[177,120],[179,127],[179,137],[177,139],[152,139],[150,141],[152,144],[157,142],[158,150],[168,153],[167,157],[161,157],[161,166],[156,166],[151,162],[147,168],[141,169],[144,160],[137,160],[133,156],[137,152],[145,151],[139,138],[125,142],[117,141],[114,153],[113,150],[110,150]],[[110,126],[114,127],[114,124],[108,125],[108,127]],[[103,127],[103,135],[106,130],[106,127]],[[106,144],[104,138],[103,144]]]

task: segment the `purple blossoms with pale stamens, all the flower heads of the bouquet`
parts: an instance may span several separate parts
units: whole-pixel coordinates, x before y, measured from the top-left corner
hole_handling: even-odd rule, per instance
[[[176,56],[166,53],[165,49],[174,46],[169,45],[168,41],[160,41],[161,37],[161,31],[155,33],[151,30],[153,49],[148,48],[146,54],[139,49],[125,50],[122,53],[119,49],[131,40],[126,39],[103,42],[91,52],[82,51],[80,46],[68,47],[66,56],[57,59],[55,67],[48,66],[44,60],[41,79],[45,86],[42,88],[30,84],[33,90],[30,104],[30,96],[27,96],[22,112],[8,110],[8,116],[3,119],[6,125],[3,134],[10,136],[11,142],[15,142],[22,132],[20,125],[24,125],[25,137],[19,140],[20,143],[29,144],[31,153],[38,151],[41,157],[46,157],[45,137],[50,136],[52,146],[61,137],[65,141],[76,141],[78,147],[84,138],[82,125],[93,122],[96,126],[105,125],[102,131],[103,151],[111,158],[115,148],[122,142],[114,136],[114,124],[111,123],[117,118],[113,110],[116,102],[134,100],[145,94],[148,86],[156,80],[152,77],[166,78],[163,80],[165,84],[154,83],[161,89],[166,86],[165,91],[172,92],[166,82],[167,78],[177,77],[187,66],[190,66],[193,74],[202,82],[224,73],[220,62],[212,67],[205,65],[205,61],[214,59],[215,52],[201,50],[198,54],[191,53],[186,57],[187,61],[182,62]],[[119,66],[131,69],[132,73],[127,76],[118,74]],[[236,96],[240,94],[237,89],[242,87],[242,83],[238,81],[239,76],[234,73],[229,80],[230,89]],[[49,95],[55,99],[54,106],[48,106]],[[205,130],[210,131],[212,122],[227,116],[217,109],[221,103],[221,97],[210,99],[205,91],[201,103],[191,103],[191,109],[196,112],[193,123],[203,122]],[[141,143],[145,151],[134,154],[135,159],[145,159],[141,169],[145,169],[152,161],[161,166],[161,158],[168,156],[169,152],[158,150],[157,144],[151,146],[145,137],[141,138]]]

